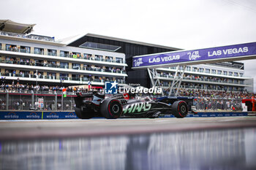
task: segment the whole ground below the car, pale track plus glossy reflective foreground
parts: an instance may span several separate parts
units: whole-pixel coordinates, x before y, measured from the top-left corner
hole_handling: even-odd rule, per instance
[[[256,117],[1,120],[0,169],[256,169]]]

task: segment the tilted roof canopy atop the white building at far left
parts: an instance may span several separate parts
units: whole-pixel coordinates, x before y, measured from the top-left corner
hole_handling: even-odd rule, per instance
[[[12,20],[0,20],[0,31],[29,34],[36,24],[16,23]]]

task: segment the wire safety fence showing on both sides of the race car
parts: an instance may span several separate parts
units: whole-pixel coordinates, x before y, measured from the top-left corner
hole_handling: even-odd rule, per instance
[[[61,91],[44,92],[37,90],[1,90],[0,110],[39,110],[39,111],[73,111],[75,93]],[[194,98],[193,103],[198,112],[242,111],[242,98]]]

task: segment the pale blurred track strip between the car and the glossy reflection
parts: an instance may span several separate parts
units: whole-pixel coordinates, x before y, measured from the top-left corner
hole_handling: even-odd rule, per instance
[[[256,117],[2,120],[0,121],[0,139],[108,136],[253,127],[256,127]]]

